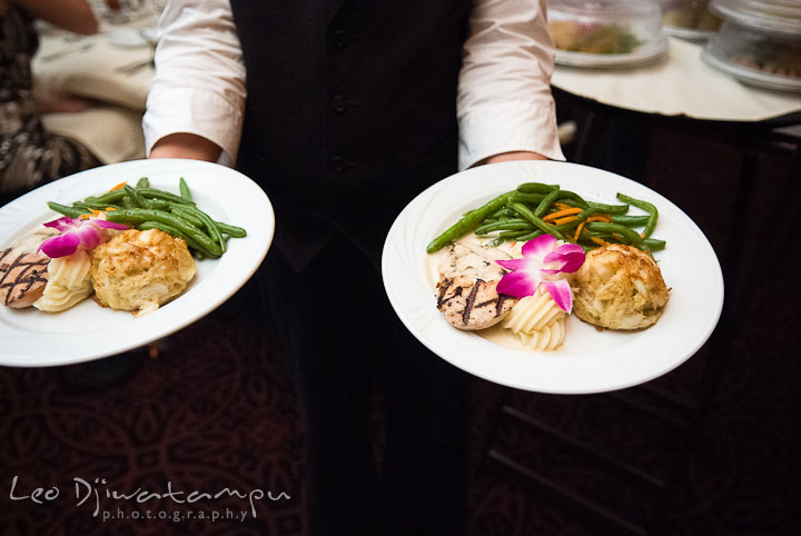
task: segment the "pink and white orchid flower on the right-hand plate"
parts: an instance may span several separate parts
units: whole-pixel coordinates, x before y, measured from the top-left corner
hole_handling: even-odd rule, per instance
[[[581,268],[584,264],[581,246],[562,244],[553,235],[541,235],[523,245],[523,258],[495,262],[512,270],[501,278],[498,294],[523,298],[536,294],[542,285],[562,310],[573,310],[570,284],[558,274]]]

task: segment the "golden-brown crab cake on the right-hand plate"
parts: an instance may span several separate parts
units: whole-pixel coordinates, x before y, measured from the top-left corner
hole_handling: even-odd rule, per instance
[[[613,244],[586,254],[571,275],[573,312],[609,329],[639,329],[655,324],[670,298],[659,265],[631,246]]]

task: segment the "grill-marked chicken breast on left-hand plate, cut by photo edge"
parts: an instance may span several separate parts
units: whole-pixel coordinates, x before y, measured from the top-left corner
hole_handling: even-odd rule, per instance
[[[37,252],[46,238],[57,234],[41,228],[0,250],[0,301],[8,307],[23,308],[33,305],[48,281],[50,257]]]

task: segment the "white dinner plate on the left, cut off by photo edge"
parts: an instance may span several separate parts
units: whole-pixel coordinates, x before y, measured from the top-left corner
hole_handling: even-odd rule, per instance
[[[135,318],[86,299],[62,312],[0,305],[0,365],[44,367],[107,357],[144,346],[200,319],[231,297],[256,271],[275,229],[265,192],[240,172],[197,160],[136,160],[103,166],[50,182],[0,209],[0,249],[37,226],[59,218],[47,201],[71,205],[116,185],[150,185],[178,193],[184,177],[198,207],[217,221],[247,230],[228,241],[219,259],[196,261],[197,275],[175,300]]]

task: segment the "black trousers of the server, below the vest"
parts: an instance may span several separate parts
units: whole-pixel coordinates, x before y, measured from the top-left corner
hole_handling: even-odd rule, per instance
[[[336,235],[300,272],[274,250],[259,274],[303,404],[310,534],[463,534],[468,376],[406,330],[378,266]]]

